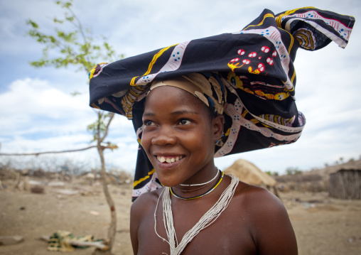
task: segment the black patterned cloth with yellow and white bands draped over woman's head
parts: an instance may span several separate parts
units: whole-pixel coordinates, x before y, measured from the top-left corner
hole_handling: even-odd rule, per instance
[[[132,119],[140,141],[144,97],[152,82],[185,77],[210,84],[217,81],[225,90],[225,102],[195,90],[208,104],[220,102],[224,107],[225,134],[215,157],[293,143],[306,123],[294,101],[296,50],[318,50],[332,40],[345,48],[354,23],[352,16],[313,7],[277,15],[265,9],[242,31],[97,65],[90,72],[90,105]],[[217,89],[211,95],[217,95]],[[159,187],[153,166],[139,146],[133,199]]]

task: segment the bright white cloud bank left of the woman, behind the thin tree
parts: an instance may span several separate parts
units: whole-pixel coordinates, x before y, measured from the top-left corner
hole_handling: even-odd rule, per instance
[[[92,136],[86,126],[95,121],[96,115],[88,100],[87,94],[72,97],[46,80],[26,78],[12,82],[9,90],[0,94],[1,152],[64,151],[90,146]],[[134,170],[138,143],[131,121],[115,116],[106,141],[119,146],[114,152],[105,152],[107,164]],[[99,166],[95,148],[50,155],[83,160],[89,167]]]

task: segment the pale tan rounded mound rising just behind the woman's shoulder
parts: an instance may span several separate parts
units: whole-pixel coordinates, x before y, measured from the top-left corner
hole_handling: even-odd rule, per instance
[[[237,176],[242,182],[251,185],[276,185],[274,178],[271,178],[271,176],[262,172],[257,166],[254,166],[254,164],[244,159],[235,161],[232,166],[225,170],[225,173],[232,173],[232,175]]]

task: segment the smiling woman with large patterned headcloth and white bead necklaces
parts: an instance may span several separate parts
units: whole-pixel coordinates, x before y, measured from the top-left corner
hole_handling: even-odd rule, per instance
[[[214,158],[297,141],[306,119],[294,101],[296,50],[332,40],[345,48],[354,22],[313,8],[264,10],[242,31],[90,72],[91,106],[132,119],[140,143],[134,254],[297,254],[282,203],[224,175]]]

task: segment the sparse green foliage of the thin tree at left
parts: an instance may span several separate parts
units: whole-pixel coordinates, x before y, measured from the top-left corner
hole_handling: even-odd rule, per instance
[[[33,67],[55,67],[63,68],[69,65],[77,67],[78,70],[85,70],[87,73],[92,70],[96,63],[112,62],[114,58],[119,58],[114,49],[107,42],[107,38],[100,36],[99,38],[92,36],[90,28],[83,28],[82,23],[72,11],[72,0],[55,1],[55,4],[63,8],[63,17],[54,17],[53,32],[45,33],[40,30],[35,21],[29,19],[26,24],[29,26],[28,36],[31,36],[36,42],[43,45],[43,54],[41,58],[29,62]],[[72,29],[65,26],[64,21],[72,23]],[[67,23],[68,24],[68,23]],[[123,55],[122,55],[123,58]],[[75,96],[79,92],[73,92]],[[92,141],[104,139],[107,134],[109,121],[112,114],[107,112],[97,112],[97,120],[87,126],[87,131],[92,134]],[[100,140],[99,140],[100,141]],[[112,143],[109,143],[112,145]],[[112,145],[112,149],[117,148]]]

